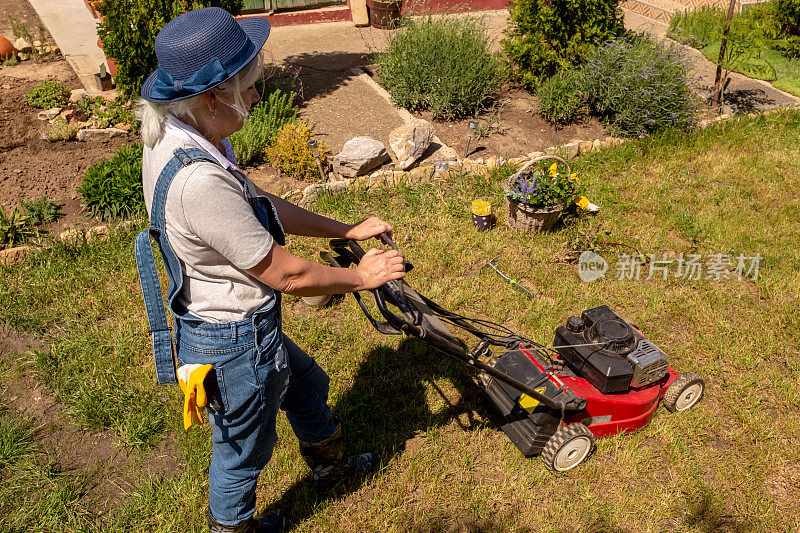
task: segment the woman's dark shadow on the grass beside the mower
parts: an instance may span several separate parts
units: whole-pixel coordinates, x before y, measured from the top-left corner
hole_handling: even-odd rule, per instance
[[[409,338],[392,349],[379,346],[359,366],[353,387],[333,405],[342,418],[346,453],[375,452],[386,464],[401,455],[406,443],[420,432],[442,427],[453,419],[470,431],[491,418],[482,401],[482,391],[467,369],[430,348]],[[460,398],[452,402],[437,381],[448,379]],[[428,405],[433,391],[442,407],[435,412]],[[328,500],[339,499],[358,490],[366,480],[353,478],[333,488],[318,486],[310,476],[290,487],[277,502],[295,524],[310,518]]]

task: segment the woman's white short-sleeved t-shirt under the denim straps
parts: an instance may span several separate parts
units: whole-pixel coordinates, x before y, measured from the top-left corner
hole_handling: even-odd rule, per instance
[[[193,315],[208,322],[250,316],[273,290],[245,272],[261,262],[274,239],[253,214],[245,191],[232,172],[244,173],[192,127],[168,116],[164,136],[145,146],[142,181],[147,213],[159,174],[178,148],[200,148],[223,165],[205,161],[181,168],[167,192],[167,238],[181,261],[183,287],[176,296]]]

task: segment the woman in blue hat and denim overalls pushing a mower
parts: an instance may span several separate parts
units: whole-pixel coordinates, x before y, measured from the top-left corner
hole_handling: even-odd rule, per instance
[[[176,355],[186,365],[181,369],[213,366],[219,388],[216,407],[209,404],[214,532],[283,527],[280,513],[253,517],[256,481],[277,441],[278,408],[315,478],[375,462],[372,454],[343,457],[341,428],[327,405],[328,376],[282,333],[281,293],[372,289],[405,275],[396,251],[370,250],[356,269],[291,255],[283,248],[284,231],[364,240],[392,228],[374,217],[351,225],[315,215],[259,190],[236,166],[226,138],[259,99],[253,84],[264,67],[269,29],[263,18],[236,22],[219,8],[177,17],[156,38],[158,69],[144,83],[139,105],[151,226],[137,238],[136,255],[158,379],[175,382]],[[150,236],[170,277],[176,354]]]

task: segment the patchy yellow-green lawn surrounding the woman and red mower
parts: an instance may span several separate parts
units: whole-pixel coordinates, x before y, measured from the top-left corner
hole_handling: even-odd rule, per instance
[[[262,508],[284,508],[298,531],[800,527],[800,113],[642,139],[573,166],[603,209],[548,234],[504,226],[501,185],[464,172],[432,184],[324,196],[313,208],[348,221],[368,214],[389,220],[415,265],[408,278],[414,288],[543,344],[568,316],[608,304],[636,322],[678,371],[703,376],[704,400],[684,414],[659,409],[637,433],[599,439],[587,464],[554,476],[538,459],[523,458],[496,428],[472,375],[457,363],[419,340],[379,335],[351,297],[320,310],[290,297],[285,330],[331,375],[331,405],[345,421],[348,450],[372,449],[382,463],[366,479],[323,491],[307,479],[281,417],[281,440],[259,484]],[[469,205],[476,197],[500,212],[496,229],[472,228]],[[604,280],[582,283],[574,264],[553,260],[576,228],[596,235],[589,240],[610,265]],[[289,246],[315,257],[325,243],[293,238]],[[755,281],[735,274],[719,281],[645,280],[648,264],[637,281],[614,279],[619,252],[763,259]],[[132,254],[132,235],[123,233],[4,270],[0,321],[43,338],[42,353],[56,362],[42,379],[75,409],[77,424],[94,427],[95,418],[82,414],[87,395],[67,378],[91,384],[101,406],[124,399],[117,384],[155,402],[146,405],[162,422],[134,432],[144,435],[138,441],[126,440],[125,420],[148,412],[143,407],[126,407],[120,419],[99,417],[121,445],[145,453],[153,442],[145,437],[157,440],[177,427],[179,398],[153,385]],[[481,268],[498,255],[498,266],[535,299]],[[124,372],[108,377],[118,366]],[[181,436],[175,446],[186,472],[141,486],[104,530],[203,530],[207,429]],[[21,509],[11,512],[22,516]]]

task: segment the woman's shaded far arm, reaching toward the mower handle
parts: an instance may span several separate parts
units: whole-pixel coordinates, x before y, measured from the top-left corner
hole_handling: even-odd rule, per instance
[[[381,233],[392,234],[392,226],[377,217],[365,218],[356,224],[345,224],[311,211],[307,211],[283,198],[265,192],[258,187],[259,194],[269,197],[278,211],[278,217],[286,233],[306,237],[348,238],[357,241],[375,237]]]

